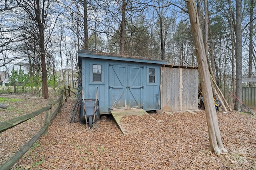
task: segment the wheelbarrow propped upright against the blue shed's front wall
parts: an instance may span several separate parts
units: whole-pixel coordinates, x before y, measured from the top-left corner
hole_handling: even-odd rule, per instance
[[[97,99],[98,87],[96,91],[96,99],[84,99],[81,100],[79,120],[86,124],[86,127],[92,128],[92,124],[96,123],[100,118],[99,100]]]

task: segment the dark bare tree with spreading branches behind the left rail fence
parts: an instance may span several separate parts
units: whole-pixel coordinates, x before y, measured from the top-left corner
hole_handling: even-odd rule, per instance
[[[40,56],[40,69],[42,73],[42,96],[47,99],[48,85],[47,85],[47,67],[46,56],[47,49],[50,42],[52,30],[58,19],[58,15],[54,12],[53,0],[22,0],[20,5],[26,16],[29,18],[28,25],[30,29],[35,29],[35,34],[32,36],[36,39],[36,46]],[[54,16],[56,15],[56,16]],[[53,18],[53,16],[55,18]]]

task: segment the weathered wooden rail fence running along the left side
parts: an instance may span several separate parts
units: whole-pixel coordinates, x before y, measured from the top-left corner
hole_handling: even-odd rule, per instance
[[[34,135],[28,141],[24,146],[22,146],[16,153],[14,153],[8,160],[6,160],[1,166],[0,170],[7,170],[12,168],[12,166],[32,147],[32,145],[42,136],[42,135],[47,135],[48,133],[48,128],[52,120],[54,119],[55,115],[57,112],[61,112],[61,107],[62,107],[62,102],[63,102],[63,96],[65,96],[65,102],[67,102],[67,98],[70,97],[70,86],[68,88],[64,88],[62,90],[60,97],[54,101],[53,99],[49,99],[48,106],[43,107],[41,109],[38,109],[37,111],[33,111],[31,113],[28,113],[26,115],[14,117],[13,119],[6,120],[0,122],[0,133],[11,129],[15,127],[16,125],[19,125],[21,123],[24,123],[31,118],[40,115],[46,111],[45,115],[45,121],[44,121],[44,126],[40,129],[40,131]],[[53,106],[58,104],[57,108],[55,111],[52,113]]]

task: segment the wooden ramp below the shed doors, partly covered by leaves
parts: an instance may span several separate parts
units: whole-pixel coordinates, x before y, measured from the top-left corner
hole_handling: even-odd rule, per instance
[[[121,129],[122,133],[124,133],[124,135],[128,134],[128,132],[125,130],[125,127],[121,123],[122,117],[128,116],[128,115],[142,116],[144,114],[148,114],[143,109],[110,110],[110,112],[112,113],[114,119],[116,120],[116,123],[118,124],[118,126],[120,127],[120,129]]]

